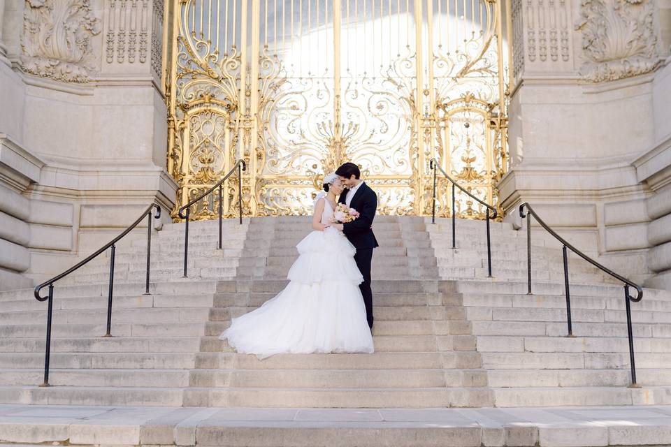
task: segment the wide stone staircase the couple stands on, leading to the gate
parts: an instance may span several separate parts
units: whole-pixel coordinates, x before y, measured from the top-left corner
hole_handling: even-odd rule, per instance
[[[272,298],[310,231],[307,217],[184,228],[152,241],[143,295],[143,232],[117,246],[112,334],[105,333],[108,259],[56,284],[49,388],[42,382],[45,303],[0,292],[0,404],[435,408],[671,403],[671,293],[633,303],[638,381],[629,374],[623,289],[571,258],[573,332],[565,337],[561,251],[492,223],[378,217],[373,258],[373,354],[238,355],[218,339],[232,317]],[[549,244],[548,244],[549,245]],[[483,256],[484,255],[484,256]]]

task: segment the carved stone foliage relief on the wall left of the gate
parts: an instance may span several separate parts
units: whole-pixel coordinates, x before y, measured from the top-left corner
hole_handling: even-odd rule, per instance
[[[91,38],[100,31],[89,0],[26,0],[22,69],[63,82],[88,82],[94,75]]]

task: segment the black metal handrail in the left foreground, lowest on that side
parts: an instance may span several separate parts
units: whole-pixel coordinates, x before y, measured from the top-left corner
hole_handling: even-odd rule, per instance
[[[105,337],[111,337],[111,328],[112,328],[112,297],[113,297],[113,288],[114,288],[114,255],[116,249],[116,243],[119,242],[122,237],[131,232],[138,224],[147,217],[147,275],[145,278],[145,295],[149,295],[149,277],[150,277],[150,264],[151,264],[151,255],[152,255],[152,209],[156,208],[156,213],[154,214],[154,219],[159,219],[161,217],[161,207],[159,205],[152,203],[149,205],[146,210],[138,217],[136,221],[131,223],[120,235],[115,237],[113,240],[110,240],[103,247],[97,249],[93,254],[87,256],[84,260],[76,263],[68,270],[57,274],[55,277],[44,281],[42,284],[39,284],[35,287],[34,295],[36,300],[44,302],[48,300],[48,309],[47,309],[47,340],[45,346],[45,360],[44,360],[44,383],[41,386],[49,386],[49,360],[51,354],[51,323],[52,323],[52,314],[53,314],[53,304],[54,304],[54,283],[63,279],[78,270],[83,265],[86,265],[94,258],[99,256],[106,249],[111,248],[110,256],[110,281],[108,289],[108,307],[107,307],[107,332]],[[45,286],[49,286],[49,293],[47,296],[41,296],[40,292]]]

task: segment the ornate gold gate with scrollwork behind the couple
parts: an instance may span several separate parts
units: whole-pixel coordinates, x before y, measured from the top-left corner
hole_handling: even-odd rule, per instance
[[[432,158],[496,203],[507,165],[503,1],[171,2],[168,171],[178,206],[239,158],[248,215],[310,212],[324,172],[348,160],[383,214],[430,212]],[[449,188],[440,191],[447,216]],[[231,182],[227,213],[236,194]],[[456,212],[481,217],[465,197]],[[206,219],[215,205],[192,216]]]

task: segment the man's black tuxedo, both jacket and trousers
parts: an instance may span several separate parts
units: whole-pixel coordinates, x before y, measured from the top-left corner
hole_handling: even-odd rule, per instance
[[[347,192],[345,189],[340,194],[340,203],[346,203]],[[354,193],[352,201],[349,202],[349,207],[359,212],[359,218],[352,222],[343,224],[342,232],[345,233],[349,242],[356,247],[356,254],[354,261],[359,271],[363,276],[363,282],[359,284],[361,295],[363,295],[363,303],[366,305],[366,319],[368,320],[368,327],[373,329],[373,291],[370,290],[370,263],[373,261],[373,249],[378,247],[377,239],[373,234],[373,219],[375,219],[375,211],[377,210],[377,194],[373,189],[363,183],[359,189]]]

